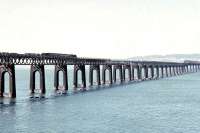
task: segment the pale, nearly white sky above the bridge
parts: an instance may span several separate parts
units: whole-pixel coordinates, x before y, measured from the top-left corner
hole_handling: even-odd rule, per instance
[[[0,51],[200,53],[200,0],[0,0]]]

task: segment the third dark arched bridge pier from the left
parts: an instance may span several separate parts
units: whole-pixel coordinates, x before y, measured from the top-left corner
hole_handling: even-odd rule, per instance
[[[63,73],[63,90],[68,90],[68,78],[67,78],[67,65],[55,65],[54,69],[54,88],[59,90],[59,72]]]

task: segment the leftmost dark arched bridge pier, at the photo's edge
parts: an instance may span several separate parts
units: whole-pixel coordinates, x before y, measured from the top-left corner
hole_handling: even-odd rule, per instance
[[[5,73],[9,74],[9,97],[16,98],[15,65],[0,65],[0,97],[4,97]]]

